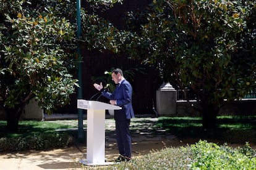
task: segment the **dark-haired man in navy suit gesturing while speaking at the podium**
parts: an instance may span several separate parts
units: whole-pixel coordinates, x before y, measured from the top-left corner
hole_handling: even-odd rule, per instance
[[[116,68],[112,71],[112,80],[117,84],[114,92],[108,92],[103,89],[102,83],[93,84],[93,86],[102,91],[102,95],[109,99],[111,105],[118,105],[122,109],[114,110],[114,119],[116,120],[116,139],[119,149],[119,157],[116,161],[130,161],[132,156],[132,142],[129,132],[130,119],[134,118],[132,108],[132,86],[124,78],[122,70]]]

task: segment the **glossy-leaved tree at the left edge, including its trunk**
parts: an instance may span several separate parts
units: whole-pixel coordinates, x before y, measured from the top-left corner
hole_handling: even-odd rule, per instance
[[[70,6],[49,2],[2,2],[0,96],[9,130],[18,129],[20,114],[33,97],[51,113],[69,102],[77,86],[70,74],[76,64],[75,27],[56,12]]]

